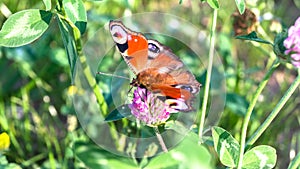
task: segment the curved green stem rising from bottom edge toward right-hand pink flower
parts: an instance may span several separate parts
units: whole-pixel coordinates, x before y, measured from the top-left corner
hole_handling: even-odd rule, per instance
[[[254,96],[250,102],[250,105],[247,109],[245,118],[244,118],[244,122],[243,122],[243,126],[242,126],[242,133],[241,133],[241,141],[240,141],[240,152],[239,152],[239,162],[237,165],[238,169],[242,168],[242,163],[243,163],[243,156],[244,156],[244,149],[245,149],[245,142],[246,142],[246,136],[247,136],[247,128],[248,128],[248,124],[250,121],[250,117],[252,114],[252,111],[255,107],[255,104],[257,102],[257,99],[259,97],[259,95],[261,94],[262,90],[265,88],[265,86],[267,85],[271,75],[273,74],[273,72],[276,70],[276,68],[279,66],[279,60],[276,59],[272,65],[272,67],[269,69],[269,71],[267,72],[267,74],[265,75],[265,77],[263,78],[263,80],[260,82],[258,88],[256,89]]]

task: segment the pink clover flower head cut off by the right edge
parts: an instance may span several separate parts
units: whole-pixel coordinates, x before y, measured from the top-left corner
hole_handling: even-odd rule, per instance
[[[286,55],[291,56],[292,64],[300,68],[300,17],[288,31],[288,37],[283,42]]]

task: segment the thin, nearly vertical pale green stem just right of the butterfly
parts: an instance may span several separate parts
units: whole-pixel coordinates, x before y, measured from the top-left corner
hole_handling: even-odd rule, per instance
[[[213,20],[212,25],[210,29],[210,44],[209,44],[209,59],[208,59],[208,65],[207,65],[207,73],[206,73],[206,81],[204,85],[204,96],[203,96],[203,103],[202,103],[202,111],[200,114],[200,124],[199,124],[199,130],[198,130],[198,136],[199,140],[201,140],[204,130],[204,122],[205,122],[205,114],[206,114],[206,108],[207,108],[207,102],[208,102],[208,96],[209,96],[209,89],[210,89],[210,79],[211,79],[211,72],[212,72],[212,65],[214,60],[214,49],[215,49],[215,32],[216,32],[216,25],[217,25],[217,16],[218,16],[218,10],[214,9],[213,13]]]

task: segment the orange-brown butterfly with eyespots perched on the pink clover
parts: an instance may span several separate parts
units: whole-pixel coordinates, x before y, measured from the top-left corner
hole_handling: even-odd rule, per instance
[[[192,102],[201,84],[170,48],[130,30],[120,21],[110,21],[109,31],[136,75],[132,86],[146,88],[175,110],[194,110]]]

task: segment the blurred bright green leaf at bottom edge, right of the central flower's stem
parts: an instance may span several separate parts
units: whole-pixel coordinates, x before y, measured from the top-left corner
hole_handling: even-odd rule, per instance
[[[168,153],[156,156],[146,165],[145,169],[163,168],[213,168],[209,151],[198,144],[198,136],[190,132],[177,147]]]

